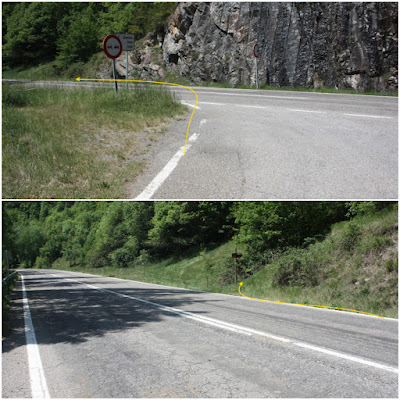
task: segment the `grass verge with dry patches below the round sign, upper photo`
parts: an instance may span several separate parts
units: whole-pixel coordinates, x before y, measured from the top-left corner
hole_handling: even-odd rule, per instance
[[[161,87],[3,85],[3,198],[124,198],[186,108]]]

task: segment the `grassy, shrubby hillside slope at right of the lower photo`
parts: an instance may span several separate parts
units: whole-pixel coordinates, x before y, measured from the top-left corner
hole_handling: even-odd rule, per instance
[[[398,315],[397,212],[341,222],[245,281],[249,296]]]

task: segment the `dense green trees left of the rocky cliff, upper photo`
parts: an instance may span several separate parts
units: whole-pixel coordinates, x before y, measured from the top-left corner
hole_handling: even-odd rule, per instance
[[[111,33],[139,40],[163,27],[173,2],[2,3],[3,68],[86,62]]]

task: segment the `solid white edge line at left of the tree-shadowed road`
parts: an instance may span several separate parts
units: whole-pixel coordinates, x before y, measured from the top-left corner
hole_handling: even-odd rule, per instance
[[[39,346],[36,341],[35,329],[33,327],[31,311],[29,309],[28,296],[24,283],[24,277],[21,275],[22,294],[23,294],[23,309],[25,320],[25,338],[26,349],[28,352],[28,369],[31,382],[32,398],[34,399],[49,399],[50,393],[47,387],[46,377],[42,359],[40,358]]]

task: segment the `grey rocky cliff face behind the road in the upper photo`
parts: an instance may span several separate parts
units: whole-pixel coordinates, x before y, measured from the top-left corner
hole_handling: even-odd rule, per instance
[[[165,32],[136,56],[140,75],[192,83],[392,90],[398,77],[397,3],[180,3]],[[156,59],[147,57],[162,47]],[[149,50],[150,49],[150,50]]]

